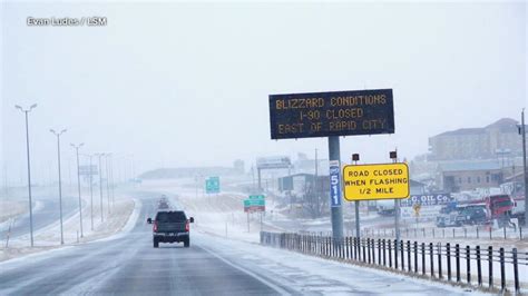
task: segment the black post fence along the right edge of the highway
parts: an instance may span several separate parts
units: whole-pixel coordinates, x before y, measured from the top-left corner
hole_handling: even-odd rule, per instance
[[[526,290],[528,253],[489,246],[460,246],[450,243],[418,243],[395,239],[344,237],[261,231],[261,244],[307,255],[383,266],[436,279],[479,287]],[[522,286],[521,286],[522,285]]]

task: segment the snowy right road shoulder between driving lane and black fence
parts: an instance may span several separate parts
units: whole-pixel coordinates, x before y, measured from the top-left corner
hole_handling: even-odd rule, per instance
[[[307,295],[481,295],[475,289],[461,289],[397,275],[389,272],[359,267],[341,262],[332,262],[293,251],[264,247],[258,244],[195,235],[201,247],[227,264],[255,274],[270,285],[278,286],[278,292],[289,287],[295,293]],[[207,247],[204,247],[207,246]]]

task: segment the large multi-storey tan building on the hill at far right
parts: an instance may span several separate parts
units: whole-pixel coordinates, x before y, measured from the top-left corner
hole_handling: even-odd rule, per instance
[[[502,118],[483,128],[462,128],[429,138],[429,160],[493,159],[520,156],[517,121]]]

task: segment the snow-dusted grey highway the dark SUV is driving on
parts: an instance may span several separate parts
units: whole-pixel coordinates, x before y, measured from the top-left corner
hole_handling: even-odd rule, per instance
[[[1,295],[457,294],[460,289],[222,238],[193,229],[190,248],[153,248],[144,194],[128,233],[0,264]],[[199,214],[196,216],[199,220]],[[375,288],[373,288],[375,287]],[[475,292],[472,293],[475,294]]]

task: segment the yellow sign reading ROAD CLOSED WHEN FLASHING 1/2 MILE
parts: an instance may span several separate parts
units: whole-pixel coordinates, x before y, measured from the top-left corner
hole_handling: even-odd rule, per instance
[[[345,166],[343,180],[349,201],[408,198],[410,194],[407,164]]]

